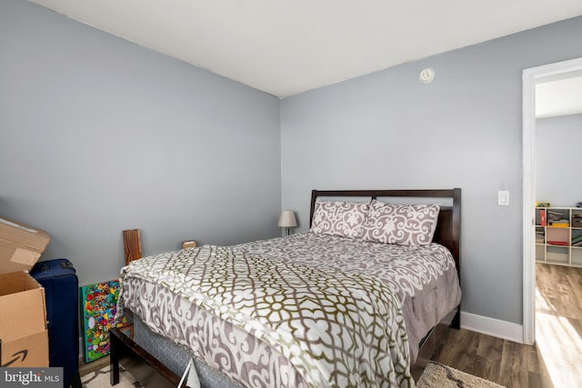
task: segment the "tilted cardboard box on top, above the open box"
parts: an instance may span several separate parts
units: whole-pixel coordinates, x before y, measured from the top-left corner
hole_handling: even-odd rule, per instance
[[[49,241],[44,231],[0,217],[0,274],[30,270]]]

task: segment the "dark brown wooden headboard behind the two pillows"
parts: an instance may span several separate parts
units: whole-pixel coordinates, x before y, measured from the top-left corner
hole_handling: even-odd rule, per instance
[[[316,199],[326,197],[368,197],[370,200],[380,197],[400,198],[450,198],[451,206],[441,206],[438,214],[438,223],[433,242],[442,244],[448,248],[455,258],[457,273],[460,276],[460,241],[461,241],[461,189],[450,190],[313,190],[311,192],[311,213],[309,214],[309,227],[316,207]],[[410,201],[409,203],[414,203]]]

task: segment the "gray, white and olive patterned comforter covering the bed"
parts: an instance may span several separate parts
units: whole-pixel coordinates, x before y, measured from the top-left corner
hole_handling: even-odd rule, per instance
[[[436,301],[410,302],[440,287],[456,290],[444,304],[457,305],[458,281],[437,281],[450,277],[451,266],[438,244],[296,234],[135,261],[122,270],[119,309],[246,386],[407,387],[414,386],[410,352],[414,359],[416,330],[423,329],[409,343],[406,324]],[[428,327],[444,316],[428,315],[437,320]]]

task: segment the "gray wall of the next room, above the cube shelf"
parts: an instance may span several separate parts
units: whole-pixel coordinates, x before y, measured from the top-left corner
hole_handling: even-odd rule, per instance
[[[536,201],[552,206],[582,202],[582,114],[536,120]]]

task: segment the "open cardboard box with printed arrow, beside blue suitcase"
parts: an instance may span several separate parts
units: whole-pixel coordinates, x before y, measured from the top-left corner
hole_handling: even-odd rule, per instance
[[[25,271],[0,274],[0,366],[48,366],[45,289]]]

